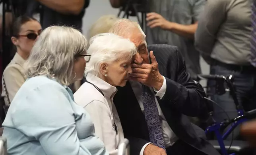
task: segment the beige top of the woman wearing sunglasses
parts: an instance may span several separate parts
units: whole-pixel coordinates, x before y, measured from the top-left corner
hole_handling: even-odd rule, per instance
[[[24,62],[25,60],[18,53],[16,53],[12,61],[4,69],[3,78],[5,80],[5,85],[6,85],[10,102],[12,102],[15,94],[17,93],[21,85],[26,80],[26,77],[24,74],[25,70],[23,68]],[[4,87],[3,78],[2,78],[2,88]],[[4,90],[4,88],[2,90]],[[2,91],[2,96],[5,96],[4,102],[7,104],[8,102],[6,99],[5,91]]]

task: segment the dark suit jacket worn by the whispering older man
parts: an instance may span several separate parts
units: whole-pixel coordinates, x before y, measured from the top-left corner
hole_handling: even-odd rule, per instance
[[[169,126],[187,144],[209,155],[218,154],[213,146],[198,136],[185,116],[197,116],[204,110],[205,92],[190,79],[178,48],[171,45],[149,45],[148,51],[151,50],[158,62],[160,74],[166,79],[165,95],[161,100],[157,99]],[[125,87],[118,88],[114,104],[124,136],[130,140],[131,155],[139,155],[142,147],[149,142],[149,133],[145,116],[129,82]]]

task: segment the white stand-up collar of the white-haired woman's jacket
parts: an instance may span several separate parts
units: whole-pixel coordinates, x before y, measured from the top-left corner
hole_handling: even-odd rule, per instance
[[[105,97],[110,100],[114,97],[114,95],[117,92],[116,87],[110,85],[103,79],[101,79],[97,76],[94,76],[91,73],[88,73],[85,78],[87,81],[89,81],[89,82],[93,83],[95,86],[97,86],[103,92]]]

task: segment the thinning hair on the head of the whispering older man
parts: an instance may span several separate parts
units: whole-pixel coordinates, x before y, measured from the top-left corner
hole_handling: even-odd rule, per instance
[[[138,23],[131,21],[130,19],[119,19],[118,21],[116,21],[116,23],[114,23],[109,32],[118,36],[126,36],[127,34],[131,34],[132,32],[134,32],[134,29],[137,29],[141,32],[142,36],[144,37],[144,42],[147,45],[146,35],[143,32],[142,28]]]

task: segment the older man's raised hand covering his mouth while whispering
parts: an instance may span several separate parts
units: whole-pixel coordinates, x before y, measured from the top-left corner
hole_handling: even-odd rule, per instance
[[[129,78],[159,91],[163,85],[163,77],[159,73],[158,63],[153,51],[150,51],[149,56],[151,64],[131,64],[132,74],[130,74]]]

